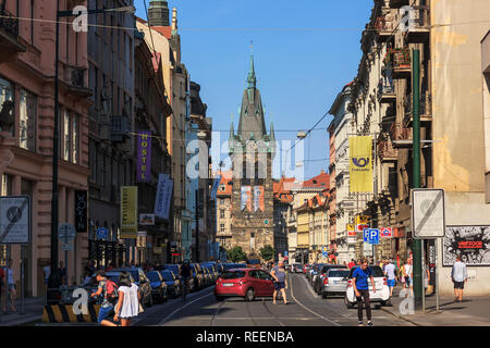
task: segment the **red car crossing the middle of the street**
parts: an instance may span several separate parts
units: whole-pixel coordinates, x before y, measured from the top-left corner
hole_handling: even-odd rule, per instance
[[[225,297],[243,297],[253,301],[256,297],[272,297],[272,275],[264,270],[232,269],[224,271],[216,281],[215,296],[218,301]]]

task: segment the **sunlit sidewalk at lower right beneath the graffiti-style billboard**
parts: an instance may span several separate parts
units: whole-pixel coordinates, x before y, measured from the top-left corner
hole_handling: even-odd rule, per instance
[[[436,311],[436,295],[426,296],[426,313],[401,314],[399,296],[401,288],[395,288],[391,299],[392,307],[381,309],[400,319],[418,326],[490,326],[490,296],[464,297],[463,302],[455,302],[454,297],[439,297],[439,313]],[[404,306],[402,306],[404,308]]]

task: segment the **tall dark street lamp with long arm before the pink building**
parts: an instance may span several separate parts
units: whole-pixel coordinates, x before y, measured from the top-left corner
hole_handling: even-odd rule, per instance
[[[85,14],[106,13],[106,12],[124,12],[134,14],[136,9],[133,5],[117,9],[88,10]],[[78,15],[72,11],[60,11],[60,0],[57,0],[57,32],[56,32],[56,54],[54,54],[54,126],[52,137],[52,199],[51,199],[51,272],[49,276],[49,287],[56,288],[60,284],[58,278],[58,149],[59,149],[59,58],[60,58],[60,18]]]

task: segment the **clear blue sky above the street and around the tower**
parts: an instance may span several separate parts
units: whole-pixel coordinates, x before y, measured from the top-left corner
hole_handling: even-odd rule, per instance
[[[135,0],[135,7],[136,15],[146,20],[144,1],[148,7],[149,0]],[[201,86],[207,116],[212,117],[213,130],[222,130],[221,141],[229,137],[232,114],[236,133],[253,41],[266,126],[269,130],[272,121],[277,139],[291,145],[298,130],[308,130],[330,110],[356,76],[360,36],[372,7],[372,0],[168,2],[170,13],[177,9],[182,62]],[[328,115],[303,140],[305,178],[328,172],[327,127],[332,119]],[[290,147],[284,144],[282,153]]]

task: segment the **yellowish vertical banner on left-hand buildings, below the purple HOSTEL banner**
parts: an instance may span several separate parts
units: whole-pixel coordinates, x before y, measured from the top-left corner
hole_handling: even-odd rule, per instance
[[[136,239],[138,233],[138,188],[121,187],[121,233],[120,238]]]

